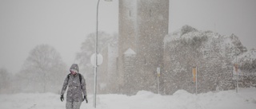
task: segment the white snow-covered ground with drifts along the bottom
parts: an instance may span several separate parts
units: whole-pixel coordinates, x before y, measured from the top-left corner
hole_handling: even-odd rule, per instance
[[[60,95],[53,93],[20,93],[0,95],[0,109],[65,109]],[[94,109],[93,95],[81,109]],[[240,88],[239,92],[218,91],[190,94],[179,90],[174,95],[158,95],[139,91],[137,95],[98,95],[98,109],[255,109],[256,88]]]

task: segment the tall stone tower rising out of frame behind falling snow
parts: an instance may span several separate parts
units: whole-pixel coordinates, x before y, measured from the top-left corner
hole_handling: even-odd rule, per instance
[[[169,0],[119,0],[118,83],[121,90],[127,88],[126,84],[134,84],[129,87],[133,92],[126,93],[157,91],[156,69],[162,67],[163,39],[168,33],[168,24]],[[126,57],[129,51],[132,57]]]

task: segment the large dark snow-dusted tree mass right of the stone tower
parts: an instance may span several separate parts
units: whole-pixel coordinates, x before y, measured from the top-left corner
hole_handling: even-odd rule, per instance
[[[185,25],[165,38],[163,90],[194,92],[192,67],[198,68],[198,92],[234,88],[232,60],[246,52],[234,34],[222,36]]]

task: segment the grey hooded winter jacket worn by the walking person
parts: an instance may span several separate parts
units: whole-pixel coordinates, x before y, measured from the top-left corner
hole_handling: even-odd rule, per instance
[[[70,67],[71,69],[75,69],[79,72],[78,64],[72,64]],[[62,91],[61,95],[64,95],[66,88],[67,89],[67,94],[66,94],[66,101],[70,102],[82,102],[83,95],[87,95],[86,93],[86,80],[82,76],[81,84],[80,84],[80,79],[79,79],[79,73],[75,75],[68,75],[66,76],[66,79],[64,80],[64,84],[62,86]]]

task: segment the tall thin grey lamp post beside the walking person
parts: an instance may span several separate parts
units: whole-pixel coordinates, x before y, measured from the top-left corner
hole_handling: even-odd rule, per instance
[[[112,0],[105,0],[106,2],[112,2]],[[94,66],[94,108],[96,108],[96,94],[97,94],[97,68],[98,68],[98,6],[100,0],[97,3],[96,12],[96,37],[95,37],[95,66]]]

